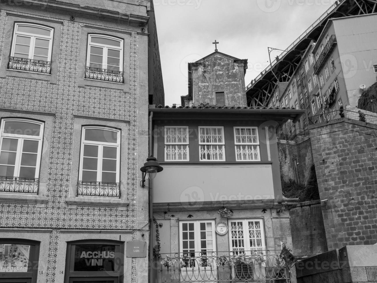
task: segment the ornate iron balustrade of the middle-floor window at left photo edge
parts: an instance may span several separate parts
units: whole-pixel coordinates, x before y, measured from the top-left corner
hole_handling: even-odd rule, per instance
[[[37,194],[38,188],[38,178],[0,176],[0,192],[22,192],[28,194]]]

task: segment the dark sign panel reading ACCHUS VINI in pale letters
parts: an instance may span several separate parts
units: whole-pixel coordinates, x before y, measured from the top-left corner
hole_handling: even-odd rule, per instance
[[[115,271],[115,245],[75,246],[74,271]]]

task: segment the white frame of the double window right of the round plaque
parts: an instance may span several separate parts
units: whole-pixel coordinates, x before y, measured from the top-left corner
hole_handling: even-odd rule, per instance
[[[261,232],[261,247],[260,248],[256,248],[256,249],[251,249],[251,246],[250,246],[250,233],[249,233],[249,229],[248,229],[248,222],[249,221],[253,221],[253,222],[259,222],[259,228],[260,228],[260,232]],[[242,222],[242,231],[243,231],[243,235],[244,235],[244,238],[243,238],[243,241],[244,241],[244,245],[243,245],[243,251],[245,252],[246,255],[251,255],[251,251],[264,251],[266,250],[266,241],[265,241],[265,231],[264,231],[264,223],[263,223],[263,218],[231,218],[231,219],[228,219],[228,227],[229,227],[229,231],[228,231],[228,234],[229,234],[229,246],[230,246],[230,251],[233,251],[233,252],[237,252],[237,251],[242,251],[242,247],[241,248],[236,248],[236,247],[233,247],[233,238],[232,238],[232,225],[231,223],[232,222]],[[236,240],[236,239],[234,239]],[[238,239],[238,240],[241,240]],[[240,245],[238,245],[240,246]]]

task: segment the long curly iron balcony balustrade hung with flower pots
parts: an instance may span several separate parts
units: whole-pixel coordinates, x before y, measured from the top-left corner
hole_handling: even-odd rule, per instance
[[[259,253],[262,252],[261,257]],[[208,252],[196,256],[182,253],[161,254],[156,262],[157,282],[291,282],[287,267],[278,267],[275,254],[280,251],[251,251],[241,261],[233,252]],[[167,257],[169,256],[169,257]],[[264,262],[261,262],[261,258]],[[169,266],[170,264],[170,266]]]

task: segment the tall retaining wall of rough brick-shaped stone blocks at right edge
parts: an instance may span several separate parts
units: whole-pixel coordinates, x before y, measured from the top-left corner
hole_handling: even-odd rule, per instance
[[[377,242],[376,133],[347,118],[310,127],[329,250]]]

